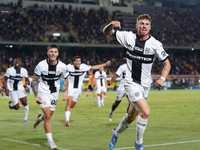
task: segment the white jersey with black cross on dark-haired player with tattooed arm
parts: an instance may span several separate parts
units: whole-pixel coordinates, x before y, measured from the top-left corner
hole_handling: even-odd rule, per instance
[[[35,74],[40,76],[38,91],[42,93],[59,92],[60,78],[66,78],[66,65],[58,60],[54,66],[48,64],[47,60],[42,60],[35,67]]]

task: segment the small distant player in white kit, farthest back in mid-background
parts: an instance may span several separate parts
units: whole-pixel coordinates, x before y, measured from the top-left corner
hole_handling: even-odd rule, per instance
[[[99,71],[95,72],[94,78],[96,82],[96,93],[97,93],[97,103],[98,107],[103,106],[104,107],[104,100],[106,98],[107,94],[107,80],[106,80],[106,72],[104,71],[104,68],[99,68]],[[101,93],[104,95],[102,96],[102,100],[100,98]]]

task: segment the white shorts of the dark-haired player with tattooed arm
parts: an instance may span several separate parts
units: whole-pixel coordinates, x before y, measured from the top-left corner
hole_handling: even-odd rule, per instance
[[[51,111],[55,111],[59,92],[38,93],[38,96],[42,99],[42,104],[40,104],[41,108],[50,107]]]

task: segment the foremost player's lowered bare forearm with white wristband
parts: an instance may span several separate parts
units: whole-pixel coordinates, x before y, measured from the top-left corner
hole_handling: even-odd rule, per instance
[[[166,60],[163,62],[163,64],[164,64],[164,69],[162,70],[161,77],[160,77],[158,80],[156,80],[156,83],[155,83],[155,85],[156,85],[157,87],[162,87],[162,86],[163,86],[164,81],[165,81],[165,79],[167,78],[167,76],[168,76],[168,74],[169,74],[169,72],[170,72],[170,70],[171,70],[171,65],[170,65],[170,62],[169,62],[168,59],[166,59]]]

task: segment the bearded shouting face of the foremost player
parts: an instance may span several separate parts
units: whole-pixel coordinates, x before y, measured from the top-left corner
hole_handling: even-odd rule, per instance
[[[151,22],[147,19],[139,20],[136,24],[138,35],[147,36],[151,29]]]

